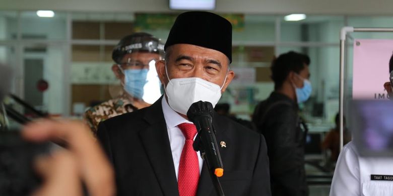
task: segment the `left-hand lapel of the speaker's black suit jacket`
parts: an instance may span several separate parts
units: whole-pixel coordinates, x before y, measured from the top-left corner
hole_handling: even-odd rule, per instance
[[[140,137],[164,195],[179,195],[161,100],[145,113],[149,127],[140,132]]]

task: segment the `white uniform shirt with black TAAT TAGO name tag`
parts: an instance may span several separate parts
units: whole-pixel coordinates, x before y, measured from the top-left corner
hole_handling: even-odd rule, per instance
[[[380,176],[371,180],[371,175]],[[330,195],[393,195],[393,158],[361,157],[353,142],[344,146],[336,164]]]

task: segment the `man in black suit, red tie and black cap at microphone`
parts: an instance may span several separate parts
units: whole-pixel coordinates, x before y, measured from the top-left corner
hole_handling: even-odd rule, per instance
[[[226,19],[207,12],[177,17],[165,61],[156,62],[164,96],[98,127],[119,195],[216,195],[204,160],[192,150],[196,129],[186,112],[197,101],[217,104],[234,77],[231,50],[232,25]],[[224,193],[271,195],[264,137],[216,113],[213,126],[225,169],[219,178]]]

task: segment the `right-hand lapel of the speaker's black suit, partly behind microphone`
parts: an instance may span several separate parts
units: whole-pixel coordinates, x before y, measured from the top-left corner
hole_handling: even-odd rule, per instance
[[[226,123],[226,122],[218,122],[218,118],[216,117],[217,115],[218,114],[213,113],[213,127],[217,132],[216,140],[218,143],[217,145],[219,148],[221,159],[223,161],[224,175],[225,175],[225,160],[224,160],[225,156],[223,156],[225,154],[225,152],[224,152],[225,149],[220,148],[221,147],[220,142],[221,141],[228,141],[228,137],[225,133],[226,127],[223,124],[220,124],[220,123]],[[206,164],[204,162],[203,167],[202,167],[202,171],[201,171],[201,177],[199,179],[197,196],[210,195],[213,191],[216,192],[216,190],[214,190],[213,181],[210,176],[208,167],[206,166]]]

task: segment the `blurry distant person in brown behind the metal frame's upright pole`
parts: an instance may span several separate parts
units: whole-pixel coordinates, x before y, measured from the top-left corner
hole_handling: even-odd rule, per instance
[[[340,114],[337,113],[335,118],[336,127],[326,134],[321,144],[322,149],[329,149],[331,151],[330,161],[334,163],[339,158],[340,154]],[[351,141],[351,134],[349,133],[345,118],[344,118],[344,145]]]

